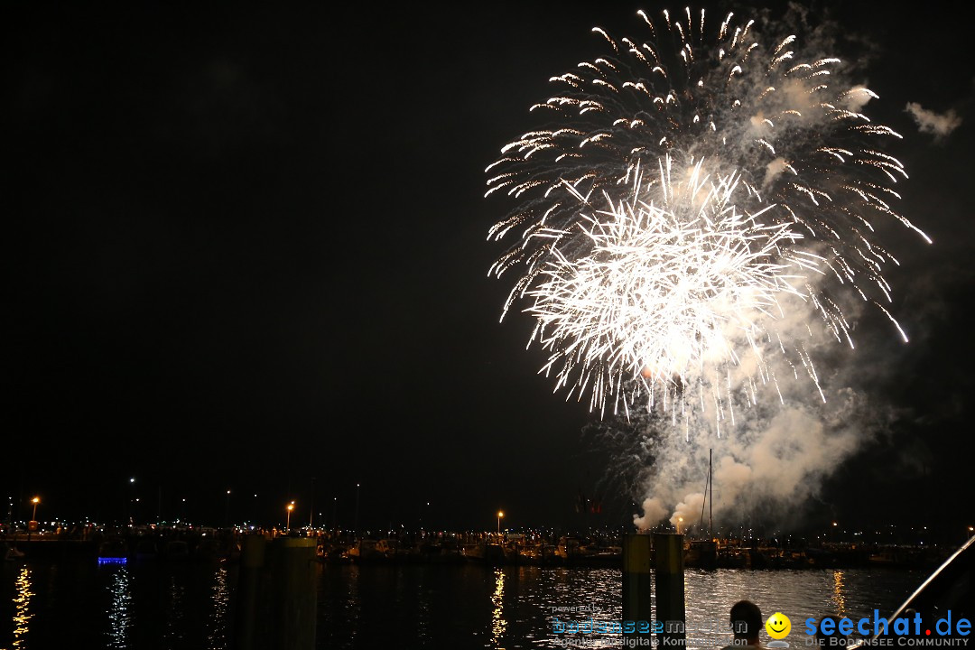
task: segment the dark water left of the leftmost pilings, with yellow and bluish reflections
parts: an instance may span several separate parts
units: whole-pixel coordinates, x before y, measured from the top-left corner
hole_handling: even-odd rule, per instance
[[[68,638],[77,648],[225,650],[235,579],[215,563],[0,564],[0,650]]]

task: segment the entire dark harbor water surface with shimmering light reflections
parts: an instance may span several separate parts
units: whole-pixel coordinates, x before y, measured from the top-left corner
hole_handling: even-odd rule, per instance
[[[318,593],[319,648],[619,647],[602,634],[553,632],[558,623],[621,619],[613,569],[478,565],[327,565]],[[0,648],[228,647],[237,570],[199,563],[4,562]],[[792,619],[803,647],[808,617],[889,615],[923,580],[917,571],[688,569],[688,647],[726,644],[728,607],[750,598]],[[570,611],[571,607],[589,611]],[[556,610],[553,608],[564,608]],[[767,639],[764,639],[767,640]]]

